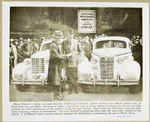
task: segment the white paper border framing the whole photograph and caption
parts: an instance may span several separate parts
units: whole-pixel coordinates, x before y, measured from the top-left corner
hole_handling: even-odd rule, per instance
[[[143,101],[142,112],[132,118],[116,116],[10,116],[9,102],[9,8],[10,6],[36,7],[119,7],[143,8]],[[3,121],[147,121],[149,120],[149,4],[110,2],[2,2],[2,106]]]

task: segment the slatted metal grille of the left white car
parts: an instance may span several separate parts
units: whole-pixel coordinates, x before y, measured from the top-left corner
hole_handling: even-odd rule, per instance
[[[32,58],[32,73],[44,73],[44,58]]]

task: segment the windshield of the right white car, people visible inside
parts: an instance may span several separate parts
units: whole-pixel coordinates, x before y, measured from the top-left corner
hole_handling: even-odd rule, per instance
[[[105,40],[96,43],[96,49],[99,48],[126,48],[126,42],[122,40]]]

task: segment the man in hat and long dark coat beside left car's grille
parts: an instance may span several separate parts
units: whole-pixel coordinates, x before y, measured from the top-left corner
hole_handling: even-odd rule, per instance
[[[58,99],[62,100],[62,53],[61,53],[61,40],[63,38],[63,33],[61,31],[55,31],[52,35],[53,40],[50,44],[50,59],[49,59],[49,70],[47,82],[53,86],[59,86],[59,96]]]

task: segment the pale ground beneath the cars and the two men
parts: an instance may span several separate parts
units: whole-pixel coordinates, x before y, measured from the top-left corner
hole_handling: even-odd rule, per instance
[[[58,100],[58,87],[29,86],[25,91],[17,90],[16,85],[10,84],[10,101],[142,101],[142,90],[138,86],[135,94],[130,94],[129,87],[98,86],[88,87],[88,91],[68,95],[64,91],[64,99]]]

